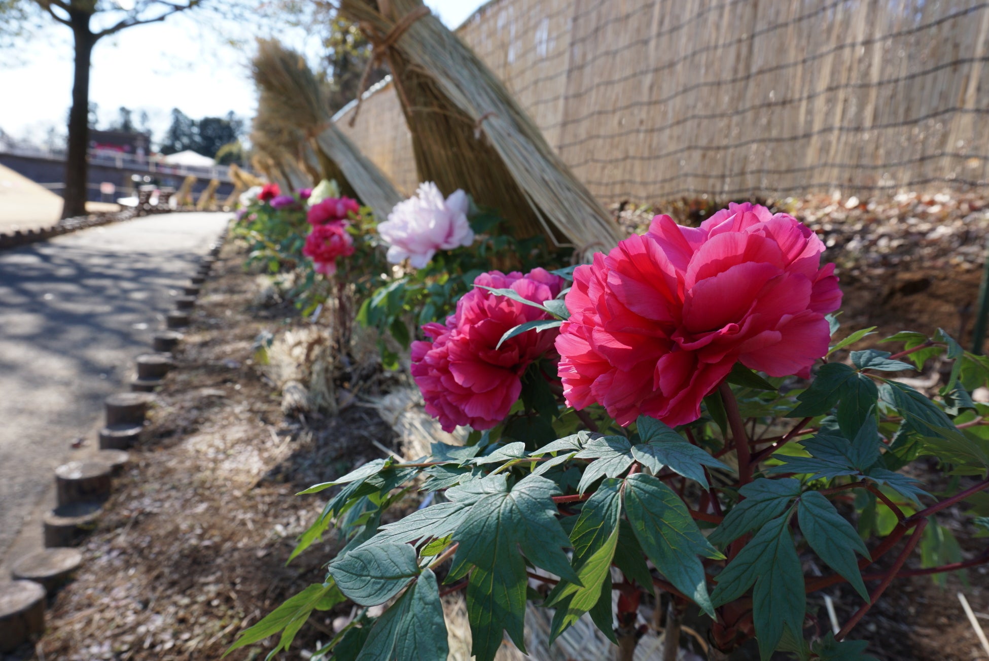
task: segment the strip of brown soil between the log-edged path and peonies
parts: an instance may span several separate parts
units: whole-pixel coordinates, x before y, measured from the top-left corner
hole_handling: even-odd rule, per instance
[[[258,333],[291,326],[292,311],[254,307],[242,263],[228,244],[36,658],[219,659],[240,630],[322,581],[332,540],[286,566],[324,503],[295,493],[383,456],[369,439],[390,446],[393,432],[358,406],[286,420],[252,355]],[[295,648],[327,642],[344,611],[311,620]],[[263,658],[273,642],[227,658]]]

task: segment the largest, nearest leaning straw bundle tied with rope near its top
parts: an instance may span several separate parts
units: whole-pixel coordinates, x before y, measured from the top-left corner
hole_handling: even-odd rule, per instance
[[[501,81],[420,0],[341,0],[340,12],[388,58],[421,179],[466,189],[516,236],[541,231],[582,252],[618,241],[608,213]]]

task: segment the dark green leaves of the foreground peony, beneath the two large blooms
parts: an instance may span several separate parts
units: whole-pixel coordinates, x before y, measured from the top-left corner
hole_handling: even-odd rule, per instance
[[[411,280],[398,282],[412,289]],[[362,314],[388,322],[429,301],[438,316],[453,297],[425,298],[434,283],[409,298],[400,285],[379,290]],[[566,318],[557,303],[539,306],[558,314],[546,326]],[[521,331],[533,329],[505,334]],[[870,331],[837,341],[829,357]],[[322,583],[231,649],[278,633],[272,655],[288,649],[313,611],[350,600],[360,610],[319,650],[322,658],[441,661],[440,595],[464,590],[479,661],[494,659],[505,634],[525,650],[529,605],[552,610],[553,639],[588,614],[616,641],[622,609],[634,614],[629,604],[661,598],[709,616],[720,649],[754,637],[763,659],[775,650],[801,660],[871,658],[865,643],[845,638],[915,548],[935,576],[967,566],[939,513],[967,503],[974,534],[989,534],[989,407],[968,395],[989,381],[989,360],[944,331],[883,341],[905,347],[826,360],[806,387],[737,365],[731,386],[705,400],[702,418],[676,428],[648,417],[621,427],[600,408],[578,414],[534,366],[508,418],[473,432],[467,445],[434,443],[429,456],[373,461],[303,492],[335,490],[293,555],[331,528],[340,550]],[[934,399],[893,378],[934,359],[952,365]],[[731,428],[748,431],[733,437]],[[922,457],[951,481],[928,487],[937,498],[914,477],[923,475],[911,467]],[[431,505],[382,524],[415,493],[430,494]],[[887,554],[896,557],[892,571],[865,571]],[[805,576],[801,559],[811,555],[832,573]],[[807,595],[841,582],[861,598],[858,612],[837,636],[805,639]],[[614,591],[634,599],[620,599],[615,612]],[[384,614],[368,614],[379,605],[389,605]]]

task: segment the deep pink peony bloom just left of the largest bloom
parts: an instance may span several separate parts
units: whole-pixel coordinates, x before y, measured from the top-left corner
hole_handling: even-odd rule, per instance
[[[522,297],[542,303],[556,298],[563,278],[536,268],[526,275],[482,273],[474,284],[510,287]],[[422,391],[426,413],[447,431],[457,425],[490,429],[500,423],[522,391],[522,374],[532,361],[553,351],[556,330],[526,331],[504,341],[505,331],[519,324],[548,319],[538,308],[475,288],[457,302],[446,325],[422,327],[431,341],[412,342],[412,376]]]

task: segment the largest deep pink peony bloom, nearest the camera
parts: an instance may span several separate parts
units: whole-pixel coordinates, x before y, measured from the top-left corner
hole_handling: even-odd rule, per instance
[[[568,404],[601,404],[621,425],[640,414],[683,425],[736,361],[808,374],[842,302],[823,250],[795,219],[749,203],[697,229],[657,216],[574,273],[556,340]]]

